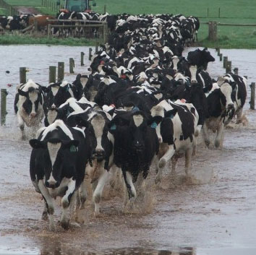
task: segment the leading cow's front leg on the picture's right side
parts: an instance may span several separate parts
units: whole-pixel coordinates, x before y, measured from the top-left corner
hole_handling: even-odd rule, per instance
[[[66,194],[61,199],[61,205],[62,205],[61,227],[66,230],[69,228],[69,217],[67,215],[67,211],[68,211],[72,196],[74,195],[74,190],[75,190],[75,181],[71,180],[67,185]]]

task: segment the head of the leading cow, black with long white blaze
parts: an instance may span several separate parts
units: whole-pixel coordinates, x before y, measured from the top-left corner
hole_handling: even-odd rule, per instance
[[[63,168],[75,168],[78,140],[61,140],[56,138],[40,141],[31,139],[30,146],[39,149],[42,157],[41,164],[45,175],[47,188],[56,189],[61,183]]]

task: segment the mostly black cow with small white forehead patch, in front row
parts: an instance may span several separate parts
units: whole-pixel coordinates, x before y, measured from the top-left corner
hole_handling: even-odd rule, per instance
[[[155,128],[151,127],[150,118],[142,111],[119,113],[110,126],[115,141],[114,163],[122,170],[130,203],[137,197],[134,183],[140,173],[140,185],[142,192],[145,192],[151,162],[158,154],[158,137]],[[125,202],[128,200],[125,199]]]

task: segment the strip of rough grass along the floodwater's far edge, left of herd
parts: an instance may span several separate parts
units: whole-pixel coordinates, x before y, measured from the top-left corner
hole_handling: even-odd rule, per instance
[[[47,38],[35,37],[34,35],[1,35],[0,45],[12,44],[46,44],[64,46],[95,46],[98,40],[85,38]]]

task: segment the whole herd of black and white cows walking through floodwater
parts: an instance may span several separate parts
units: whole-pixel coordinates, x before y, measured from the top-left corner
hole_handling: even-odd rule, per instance
[[[242,120],[247,80],[233,73],[213,80],[206,69],[215,59],[207,48],[182,56],[198,28],[195,17],[122,14],[108,43],[93,56],[90,74],[47,87],[29,79],[17,87],[14,110],[22,136],[25,125],[37,130],[30,139],[30,177],[43,196],[43,218],[49,217],[51,230],[56,196],[62,197],[64,229],[69,204],[77,199],[84,207],[85,175],[95,215],[103,188],[116,173],[122,173],[127,190],[124,204],[131,205],[135,183],[142,180],[146,192],[150,167],[160,183],[166,163],[171,160],[175,171],[184,155],[189,173],[200,132],[208,147],[208,129],[216,132],[214,145],[221,147],[224,127]]]

